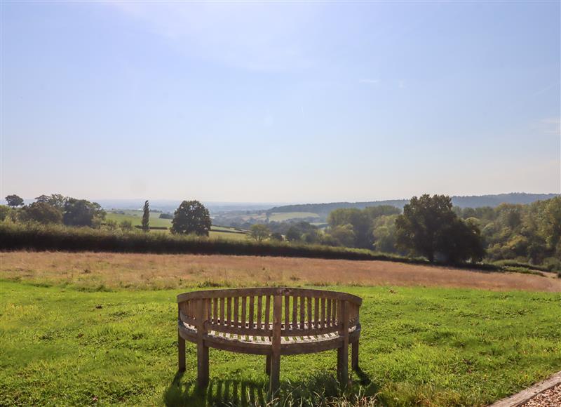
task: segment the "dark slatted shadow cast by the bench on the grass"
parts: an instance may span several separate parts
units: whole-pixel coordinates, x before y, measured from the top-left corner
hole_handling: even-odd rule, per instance
[[[374,396],[378,386],[363,372],[356,373],[353,385],[346,396]],[[304,380],[283,382],[275,403],[269,403],[268,380],[210,380],[208,387],[197,387],[196,380],[184,381],[177,373],[163,394],[165,406],[316,406],[320,401],[341,396],[339,383],[334,375],[319,373]],[[269,404],[268,404],[269,403]]]

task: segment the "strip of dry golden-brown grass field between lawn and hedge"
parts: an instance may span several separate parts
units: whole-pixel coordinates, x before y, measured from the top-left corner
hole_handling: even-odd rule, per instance
[[[1,278],[87,289],[210,286],[440,286],[561,292],[561,279],[399,262],[233,255],[4,252]]]

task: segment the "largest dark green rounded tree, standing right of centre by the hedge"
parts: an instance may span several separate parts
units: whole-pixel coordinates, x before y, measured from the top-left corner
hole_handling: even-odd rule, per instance
[[[482,240],[476,225],[459,219],[450,196],[414,196],[396,219],[398,246],[424,255],[429,261],[440,254],[449,262],[480,260]]]

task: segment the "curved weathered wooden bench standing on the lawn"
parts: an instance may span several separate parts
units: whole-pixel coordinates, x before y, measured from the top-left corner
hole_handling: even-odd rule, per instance
[[[337,375],[349,380],[358,368],[356,295],[306,288],[232,288],[177,295],[179,369],[185,370],[185,340],[197,344],[198,385],[208,385],[208,348],[266,355],[270,391],[280,378],[280,355],[337,349]]]

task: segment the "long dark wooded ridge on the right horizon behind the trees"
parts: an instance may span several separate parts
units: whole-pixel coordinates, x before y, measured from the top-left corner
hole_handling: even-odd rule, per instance
[[[473,196],[452,196],[452,204],[461,208],[479,208],[480,206],[498,206],[500,204],[531,204],[534,201],[551,199],[560,194],[525,194],[523,192],[513,192],[511,194],[496,195],[473,195]],[[339,208],[358,208],[363,209],[368,206],[391,205],[403,208],[409,199],[393,199],[389,201],[370,201],[370,202],[331,202],[329,204],[297,204],[275,206],[269,209],[269,213],[280,212],[309,212],[318,215],[327,215],[331,211]]]

